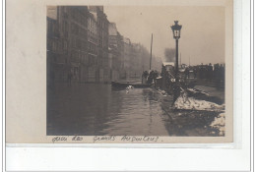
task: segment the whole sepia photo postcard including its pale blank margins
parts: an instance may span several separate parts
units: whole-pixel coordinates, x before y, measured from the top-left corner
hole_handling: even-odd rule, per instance
[[[233,2],[186,2],[7,1],[7,143],[232,143]]]

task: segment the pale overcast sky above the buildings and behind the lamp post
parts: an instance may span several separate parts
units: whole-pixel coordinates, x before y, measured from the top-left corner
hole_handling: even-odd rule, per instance
[[[224,63],[224,7],[105,6],[109,22],[118,31],[149,50],[154,34],[153,54],[164,59],[164,49],[175,48],[170,29],[182,25],[179,52],[182,63]]]

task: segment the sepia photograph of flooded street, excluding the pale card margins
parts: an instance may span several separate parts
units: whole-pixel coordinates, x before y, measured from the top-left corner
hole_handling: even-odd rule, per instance
[[[225,137],[224,7],[46,10],[47,136]]]

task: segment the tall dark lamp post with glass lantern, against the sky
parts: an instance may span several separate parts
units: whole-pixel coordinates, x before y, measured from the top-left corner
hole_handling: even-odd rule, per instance
[[[173,32],[173,38],[176,40],[176,59],[175,59],[175,86],[174,86],[174,95],[173,103],[178,97],[179,86],[178,86],[178,39],[180,38],[180,30],[182,26],[178,25],[178,21],[174,21],[175,25],[171,26]]]

